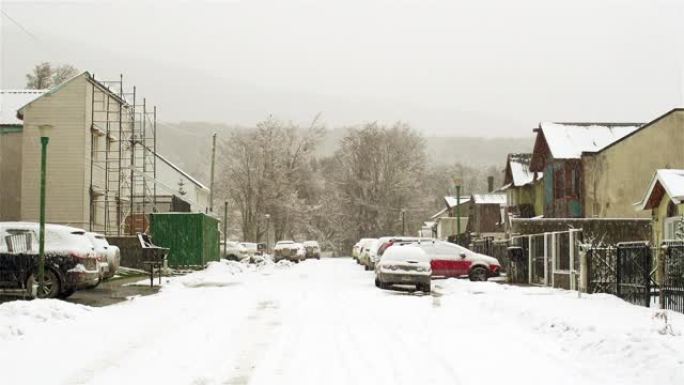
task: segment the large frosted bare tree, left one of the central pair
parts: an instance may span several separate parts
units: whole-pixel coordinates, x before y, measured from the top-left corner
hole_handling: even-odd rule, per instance
[[[269,118],[256,129],[233,133],[221,145],[219,183],[240,212],[243,238],[262,241],[265,214],[276,238],[296,238],[307,221],[305,192],[310,161],[324,129]]]

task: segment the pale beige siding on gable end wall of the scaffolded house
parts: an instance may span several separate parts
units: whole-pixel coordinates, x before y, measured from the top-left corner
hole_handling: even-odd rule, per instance
[[[21,219],[38,221],[40,197],[40,133],[54,126],[47,149],[46,217],[50,223],[88,226],[86,183],[86,83],[74,79],[53,95],[34,101],[24,111],[21,173]],[[89,145],[89,143],[88,143]]]

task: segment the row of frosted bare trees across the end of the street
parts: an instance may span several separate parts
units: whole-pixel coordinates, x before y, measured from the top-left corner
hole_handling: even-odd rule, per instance
[[[429,163],[423,136],[405,123],[348,127],[334,153],[316,156],[324,134],[318,118],[270,117],[219,143],[217,198],[230,202],[235,237],[316,239],[343,252],[360,237],[416,234],[454,179],[465,194],[486,191],[489,175],[502,179],[496,167]]]

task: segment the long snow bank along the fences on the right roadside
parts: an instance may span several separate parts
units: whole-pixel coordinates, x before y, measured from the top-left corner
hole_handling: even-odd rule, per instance
[[[493,282],[450,279],[437,283],[436,291],[443,307],[476,301],[499,322],[549,337],[582,365],[602,362],[596,370],[615,371],[616,378],[643,375],[647,383],[684,378],[683,314],[632,305],[608,294],[578,297],[574,291]]]

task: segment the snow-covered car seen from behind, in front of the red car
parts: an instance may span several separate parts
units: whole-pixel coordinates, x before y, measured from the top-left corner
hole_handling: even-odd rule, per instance
[[[423,249],[413,245],[392,247],[375,267],[375,286],[390,289],[410,285],[429,293],[431,275],[430,259]]]

